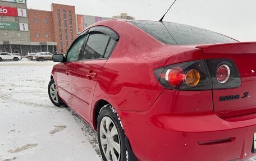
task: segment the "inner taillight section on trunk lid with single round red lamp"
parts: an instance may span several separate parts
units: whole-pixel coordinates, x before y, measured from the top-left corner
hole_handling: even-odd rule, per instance
[[[230,59],[207,59],[206,62],[211,73],[213,89],[237,88],[241,85],[239,71]]]

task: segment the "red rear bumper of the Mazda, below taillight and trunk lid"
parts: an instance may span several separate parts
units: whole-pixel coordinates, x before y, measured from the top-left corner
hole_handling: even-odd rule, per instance
[[[170,95],[162,93],[165,94]],[[206,112],[206,108],[204,113],[178,114],[170,107],[170,99],[162,95],[148,111],[118,111],[138,160],[227,161],[255,155],[252,146],[256,119],[228,122],[213,112]],[[179,95],[182,97],[181,93]],[[207,91],[203,95],[207,95]],[[178,104],[175,107],[182,109],[191,102],[184,100],[180,104],[182,107],[177,107]],[[202,109],[200,105],[196,108]],[[217,142],[200,145],[213,140]]]

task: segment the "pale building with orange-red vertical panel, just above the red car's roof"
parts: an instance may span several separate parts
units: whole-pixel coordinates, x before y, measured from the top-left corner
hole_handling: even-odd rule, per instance
[[[90,16],[90,15],[76,15],[77,34],[81,33],[86,27],[98,21],[109,20],[108,17]]]

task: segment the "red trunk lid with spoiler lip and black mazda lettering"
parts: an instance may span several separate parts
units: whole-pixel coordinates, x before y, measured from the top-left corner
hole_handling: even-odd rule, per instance
[[[213,90],[213,108],[221,118],[244,116],[256,112],[256,42],[201,45],[204,59],[230,59],[241,77],[241,85]],[[239,95],[239,96],[237,96]],[[230,100],[220,101],[223,96]]]

